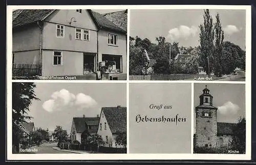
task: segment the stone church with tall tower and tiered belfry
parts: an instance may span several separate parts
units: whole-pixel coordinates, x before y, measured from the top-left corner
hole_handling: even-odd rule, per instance
[[[212,105],[212,96],[207,85],[200,95],[200,104],[196,106],[196,147],[227,147],[232,141],[233,127],[236,123],[217,122],[217,107]]]

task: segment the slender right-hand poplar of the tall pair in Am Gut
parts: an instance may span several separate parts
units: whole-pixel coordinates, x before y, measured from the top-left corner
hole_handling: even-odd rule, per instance
[[[224,40],[224,32],[221,27],[220,15],[219,13],[216,15],[216,23],[214,26],[215,29],[215,55],[214,55],[214,74],[218,77],[222,75],[222,43]]]

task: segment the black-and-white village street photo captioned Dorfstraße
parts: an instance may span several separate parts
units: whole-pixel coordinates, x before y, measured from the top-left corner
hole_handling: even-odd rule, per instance
[[[12,98],[13,154],[126,153],[125,83],[14,82]]]

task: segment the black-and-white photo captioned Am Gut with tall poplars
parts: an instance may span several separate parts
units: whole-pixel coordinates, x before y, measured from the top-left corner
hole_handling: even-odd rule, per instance
[[[130,80],[245,81],[246,10],[131,10]]]

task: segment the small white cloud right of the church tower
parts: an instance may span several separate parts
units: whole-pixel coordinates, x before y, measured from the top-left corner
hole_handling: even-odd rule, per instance
[[[238,112],[240,107],[232,102],[226,102],[222,106],[218,107],[218,111],[224,115],[234,115]]]

